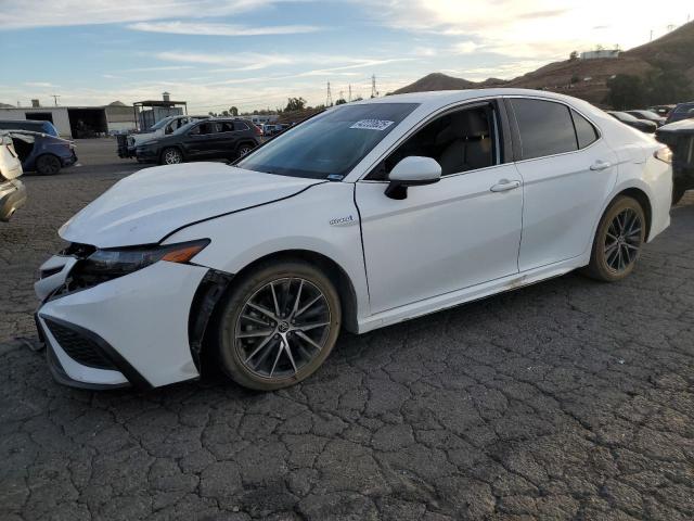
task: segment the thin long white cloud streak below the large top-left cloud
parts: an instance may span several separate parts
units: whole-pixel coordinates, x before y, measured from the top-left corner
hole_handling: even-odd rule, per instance
[[[196,22],[138,22],[128,25],[129,29],[149,33],[169,33],[174,35],[195,36],[266,36],[266,35],[296,35],[322,30],[313,25],[269,25],[265,27],[249,27],[239,24],[215,24]]]

